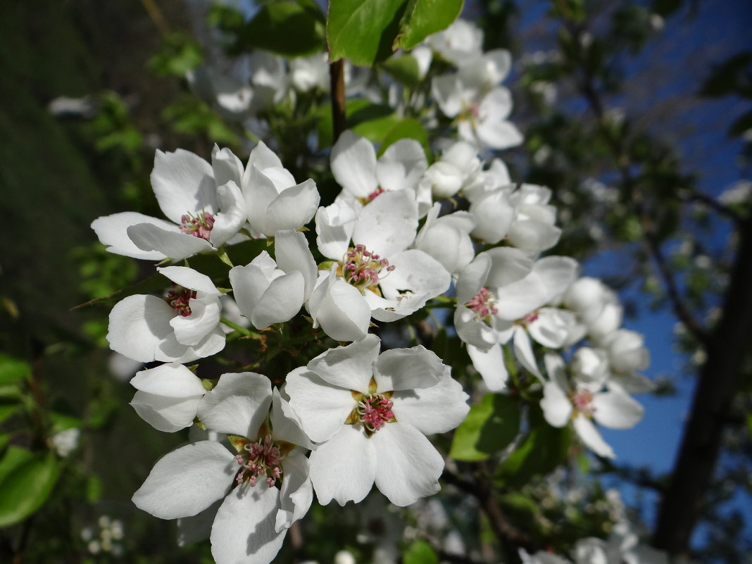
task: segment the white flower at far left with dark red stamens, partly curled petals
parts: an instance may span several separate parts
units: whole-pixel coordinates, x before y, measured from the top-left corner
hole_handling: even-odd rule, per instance
[[[222,350],[222,292],[193,268],[157,271],[174,287],[164,298],[135,294],[117,302],[110,312],[110,348],[140,362],[190,362]]]

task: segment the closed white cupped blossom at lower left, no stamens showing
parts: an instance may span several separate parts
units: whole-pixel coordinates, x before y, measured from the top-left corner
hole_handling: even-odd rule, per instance
[[[154,429],[164,432],[193,425],[206,393],[196,374],[174,362],[137,372],[131,385],[138,390],[131,400],[136,413]]]

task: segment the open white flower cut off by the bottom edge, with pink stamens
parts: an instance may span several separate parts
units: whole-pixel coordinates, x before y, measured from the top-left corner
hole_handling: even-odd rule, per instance
[[[223,374],[198,415],[208,430],[229,435],[232,450],[199,441],[168,453],[133,502],[180,519],[190,541],[210,537],[217,564],[268,564],[311,505],[305,450],[313,445],[262,374]]]

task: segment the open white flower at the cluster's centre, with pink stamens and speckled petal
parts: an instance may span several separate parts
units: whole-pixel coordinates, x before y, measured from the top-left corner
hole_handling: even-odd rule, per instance
[[[371,317],[401,319],[447,290],[450,274],[441,263],[408,249],[418,223],[411,190],[385,192],[359,212],[344,202],[329,208],[317,214],[316,229],[332,266],[320,272],[308,300],[314,323],[327,335],[356,341],[368,332]]]

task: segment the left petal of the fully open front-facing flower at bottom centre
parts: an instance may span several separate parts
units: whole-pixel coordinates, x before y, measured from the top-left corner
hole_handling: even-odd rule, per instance
[[[316,442],[335,435],[356,407],[350,390],[332,387],[305,367],[287,374],[285,391],[306,434]]]

